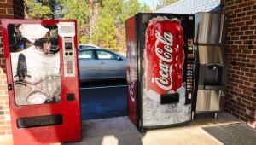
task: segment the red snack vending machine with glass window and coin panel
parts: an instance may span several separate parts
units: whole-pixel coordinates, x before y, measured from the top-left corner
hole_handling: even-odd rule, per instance
[[[81,140],[75,20],[1,20],[14,144]]]

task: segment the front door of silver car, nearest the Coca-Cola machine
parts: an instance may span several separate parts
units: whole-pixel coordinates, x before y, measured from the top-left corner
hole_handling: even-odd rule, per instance
[[[96,50],[99,78],[124,78],[125,65],[118,55],[108,50]]]

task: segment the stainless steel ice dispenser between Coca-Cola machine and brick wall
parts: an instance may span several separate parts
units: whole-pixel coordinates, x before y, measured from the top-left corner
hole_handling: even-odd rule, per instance
[[[194,44],[198,49],[198,91],[196,113],[214,113],[223,109],[222,95],[227,81],[225,36],[228,15],[218,13],[195,14]]]

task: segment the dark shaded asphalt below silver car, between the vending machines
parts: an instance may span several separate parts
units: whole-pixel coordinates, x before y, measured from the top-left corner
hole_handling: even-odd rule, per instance
[[[125,80],[80,84],[82,119],[104,119],[127,115]]]

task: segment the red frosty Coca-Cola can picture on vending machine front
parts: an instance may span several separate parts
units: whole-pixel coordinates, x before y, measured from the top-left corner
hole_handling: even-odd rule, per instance
[[[144,50],[147,91],[161,96],[182,87],[183,44],[183,27],[177,18],[158,16],[149,21]]]

